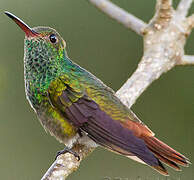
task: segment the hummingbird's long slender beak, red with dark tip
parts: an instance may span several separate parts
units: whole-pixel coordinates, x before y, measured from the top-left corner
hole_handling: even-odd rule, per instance
[[[15,21],[15,23],[25,32],[27,37],[34,37],[39,35],[39,33],[35,32],[33,29],[31,29],[27,24],[25,24],[21,19],[19,19],[15,15],[11,14],[8,11],[5,11],[5,14],[13,21]]]

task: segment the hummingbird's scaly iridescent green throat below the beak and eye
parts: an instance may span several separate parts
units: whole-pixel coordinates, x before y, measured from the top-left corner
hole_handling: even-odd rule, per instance
[[[46,95],[51,81],[68,73],[72,62],[67,57],[65,48],[55,47],[42,38],[25,39],[24,43],[26,92],[32,104],[37,105]]]

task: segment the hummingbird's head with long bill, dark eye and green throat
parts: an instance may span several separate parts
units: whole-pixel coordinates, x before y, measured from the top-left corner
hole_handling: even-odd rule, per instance
[[[60,34],[50,27],[30,28],[15,15],[5,12],[24,32],[24,64],[26,78],[44,83],[58,76],[67,58],[66,43]],[[63,68],[63,69],[62,69]]]

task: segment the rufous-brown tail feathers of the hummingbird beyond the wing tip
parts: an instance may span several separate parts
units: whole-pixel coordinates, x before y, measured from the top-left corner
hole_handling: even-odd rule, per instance
[[[188,158],[158,140],[156,137],[144,136],[143,139],[150,151],[152,151],[161,162],[166,163],[175,170],[181,170],[178,165],[188,166],[190,163]],[[155,167],[153,168],[156,169]]]

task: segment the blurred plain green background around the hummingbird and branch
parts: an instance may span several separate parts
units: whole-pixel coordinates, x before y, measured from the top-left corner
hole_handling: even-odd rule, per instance
[[[154,13],[155,0],[113,2],[146,22]],[[63,145],[45,133],[26,101],[24,33],[3,14],[4,10],[32,27],[56,28],[67,41],[69,56],[114,90],[136,69],[142,56],[142,39],[109,19],[87,0],[0,1],[0,179],[40,179]],[[193,34],[185,50],[194,54]],[[176,67],[164,74],[132,109],[157,137],[194,161],[194,66]],[[183,168],[182,172],[171,169],[169,172],[170,177],[162,177],[147,166],[98,148],[69,179],[194,179],[193,165]]]

